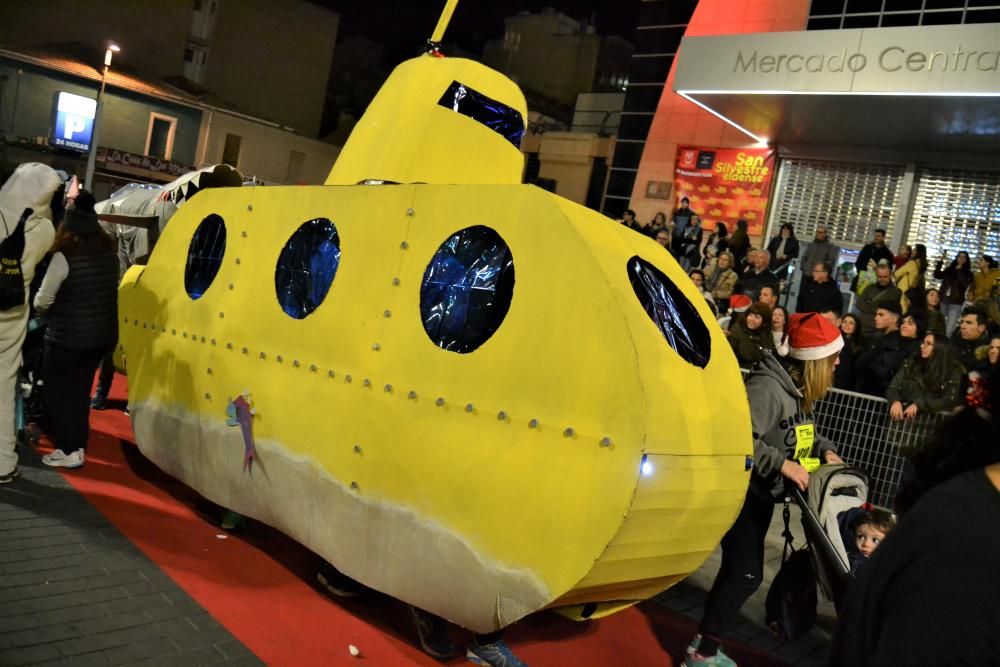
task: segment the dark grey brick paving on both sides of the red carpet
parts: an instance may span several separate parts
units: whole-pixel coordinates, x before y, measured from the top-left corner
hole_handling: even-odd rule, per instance
[[[21,472],[0,488],[0,665],[262,664],[37,453],[22,455]],[[778,510],[767,582],[781,553]],[[797,510],[793,528],[801,543]],[[657,601],[698,619],[718,562],[717,551]],[[765,595],[747,604],[734,638],[790,664],[825,664],[832,605],[805,638],[780,642],[763,624]]]

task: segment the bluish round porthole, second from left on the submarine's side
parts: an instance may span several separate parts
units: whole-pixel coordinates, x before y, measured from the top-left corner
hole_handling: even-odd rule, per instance
[[[340,237],[326,218],[303,223],[285,242],[274,271],[281,309],[301,320],[326,298],[340,266]]]

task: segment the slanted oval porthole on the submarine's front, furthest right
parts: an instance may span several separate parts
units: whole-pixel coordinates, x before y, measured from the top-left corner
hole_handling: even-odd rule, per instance
[[[649,319],[688,363],[704,368],[712,354],[705,322],[687,297],[662,271],[644,259],[628,261],[628,277]]]

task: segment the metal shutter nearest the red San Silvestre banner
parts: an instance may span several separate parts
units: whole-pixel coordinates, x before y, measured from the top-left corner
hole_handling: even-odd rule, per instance
[[[903,172],[902,165],[782,160],[770,234],[787,222],[795,236],[806,240],[820,224],[838,245],[861,247],[876,229],[886,230],[891,239]]]

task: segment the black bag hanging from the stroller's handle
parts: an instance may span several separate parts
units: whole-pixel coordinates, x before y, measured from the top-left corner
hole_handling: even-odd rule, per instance
[[[788,503],[786,498],[782,513],[785,519],[785,546],[781,554],[781,569],[767,592],[764,620],[782,639],[797,639],[809,632],[816,622],[816,572],[809,548],[796,549],[792,546]]]

